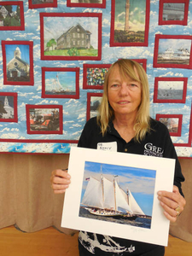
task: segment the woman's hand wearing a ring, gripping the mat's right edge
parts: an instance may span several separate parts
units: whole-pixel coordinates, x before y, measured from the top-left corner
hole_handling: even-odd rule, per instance
[[[177,220],[177,216],[183,212],[186,204],[186,201],[179,193],[177,186],[173,186],[172,192],[159,191],[158,199],[160,200],[161,207],[165,210],[164,214],[166,218],[175,222]]]

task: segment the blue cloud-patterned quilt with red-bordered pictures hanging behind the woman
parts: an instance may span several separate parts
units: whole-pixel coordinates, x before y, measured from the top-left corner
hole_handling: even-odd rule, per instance
[[[0,3],[0,152],[69,153],[119,58],[148,74],[151,117],[192,157],[192,1]]]

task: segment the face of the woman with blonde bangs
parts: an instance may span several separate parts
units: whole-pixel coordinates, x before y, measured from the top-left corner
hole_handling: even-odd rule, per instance
[[[137,70],[135,71],[137,73]],[[115,65],[108,78],[108,102],[113,108],[114,115],[136,117],[141,101],[141,83],[129,77],[123,79],[119,73],[119,66]]]

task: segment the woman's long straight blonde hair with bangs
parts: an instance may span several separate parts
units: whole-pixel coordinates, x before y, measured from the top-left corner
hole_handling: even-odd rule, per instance
[[[101,126],[102,136],[108,129],[108,123],[114,118],[113,108],[111,108],[108,102],[108,79],[110,74],[113,72],[113,67],[119,66],[119,73],[123,78],[130,77],[136,80],[142,85],[142,101],[137,111],[137,118],[134,125],[135,137],[137,142],[140,142],[150,130],[149,126],[149,89],[148,89],[148,78],[143,67],[137,61],[131,61],[128,59],[120,59],[115,61],[112,66],[108,69],[108,73],[105,76],[103,84],[103,95],[102,102],[98,108],[97,123]],[[137,70],[137,73],[135,71]],[[137,77],[139,76],[139,79]]]

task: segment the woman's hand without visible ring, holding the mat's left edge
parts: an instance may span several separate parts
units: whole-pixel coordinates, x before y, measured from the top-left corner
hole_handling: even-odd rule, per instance
[[[71,176],[67,171],[61,169],[56,169],[51,172],[50,183],[51,188],[54,190],[55,194],[62,194],[66,192],[69,184],[71,183]]]

